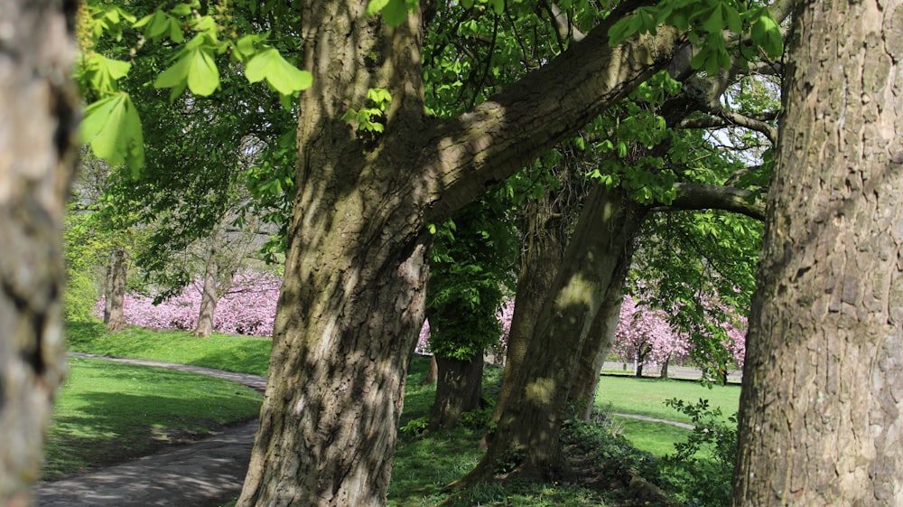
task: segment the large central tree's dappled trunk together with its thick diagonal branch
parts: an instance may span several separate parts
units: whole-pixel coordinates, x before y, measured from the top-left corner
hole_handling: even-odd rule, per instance
[[[683,43],[673,30],[610,48],[601,25],[500,95],[424,117],[417,14],[396,28],[367,2],[304,3],[293,218],[261,424],[238,501],[382,505],[408,358],[424,321],[436,223],[624,97]],[[341,117],[392,100],[385,132]]]

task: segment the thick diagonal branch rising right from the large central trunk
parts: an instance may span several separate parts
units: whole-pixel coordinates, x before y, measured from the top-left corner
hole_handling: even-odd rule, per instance
[[[632,5],[631,5],[632,6]],[[470,202],[490,185],[586,125],[671,61],[684,34],[662,27],[655,36],[634,36],[609,46],[608,31],[619,15],[600,23],[545,67],[527,74],[492,99],[427,129],[422,177],[414,198],[429,205],[437,221]]]

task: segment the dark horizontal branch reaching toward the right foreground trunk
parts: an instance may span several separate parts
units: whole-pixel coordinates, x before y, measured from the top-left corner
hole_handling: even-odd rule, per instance
[[[668,205],[654,206],[652,211],[724,210],[765,220],[764,192],[723,185],[675,183],[677,196]]]

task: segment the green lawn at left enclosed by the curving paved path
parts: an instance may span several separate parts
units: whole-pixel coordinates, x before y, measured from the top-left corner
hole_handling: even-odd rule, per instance
[[[53,408],[47,480],[148,455],[254,418],[262,396],[205,375],[70,358]]]

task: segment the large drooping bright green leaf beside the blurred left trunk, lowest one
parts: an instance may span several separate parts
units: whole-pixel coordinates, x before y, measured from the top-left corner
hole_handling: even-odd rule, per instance
[[[125,163],[133,174],[144,165],[141,118],[128,94],[119,92],[89,105],[79,130],[82,142],[111,165]]]

